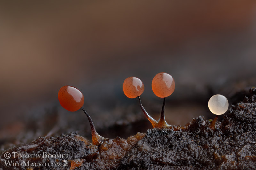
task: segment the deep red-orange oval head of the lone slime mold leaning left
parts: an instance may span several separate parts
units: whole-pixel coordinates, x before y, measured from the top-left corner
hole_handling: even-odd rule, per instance
[[[75,87],[63,86],[58,92],[60,105],[66,110],[74,112],[84,105],[83,94]]]

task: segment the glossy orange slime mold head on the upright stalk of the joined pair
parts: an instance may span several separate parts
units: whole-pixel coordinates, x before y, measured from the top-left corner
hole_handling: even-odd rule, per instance
[[[158,73],[152,80],[152,90],[158,97],[170,96],[175,89],[175,82],[171,75]]]

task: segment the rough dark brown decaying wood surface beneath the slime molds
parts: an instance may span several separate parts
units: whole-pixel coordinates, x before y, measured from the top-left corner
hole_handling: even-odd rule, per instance
[[[250,89],[250,94],[232,105],[215,129],[200,116],[183,127],[149,129],[128,139],[106,139],[98,146],[76,133],[40,137],[1,152],[0,169],[256,169],[256,89]],[[5,158],[7,152],[9,159]],[[44,158],[44,152],[60,156]],[[36,154],[40,156],[17,158]],[[26,165],[30,161],[30,166],[23,161]]]

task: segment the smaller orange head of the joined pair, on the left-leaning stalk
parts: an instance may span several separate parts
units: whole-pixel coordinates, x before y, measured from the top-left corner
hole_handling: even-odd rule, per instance
[[[135,98],[144,92],[144,85],[139,78],[128,77],[124,80],[123,91],[127,97]]]

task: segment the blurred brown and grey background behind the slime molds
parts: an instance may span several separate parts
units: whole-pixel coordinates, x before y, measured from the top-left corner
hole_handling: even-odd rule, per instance
[[[104,137],[151,128],[138,100],[122,91],[130,76],[143,81],[142,104],[155,119],[162,99],[151,81],[159,72],[176,84],[167,123],[214,118],[213,94],[232,104],[256,85],[255,47],[254,0],[1,1],[0,149],[72,131],[91,139],[84,113],[60,106],[64,85],[84,94]]]

